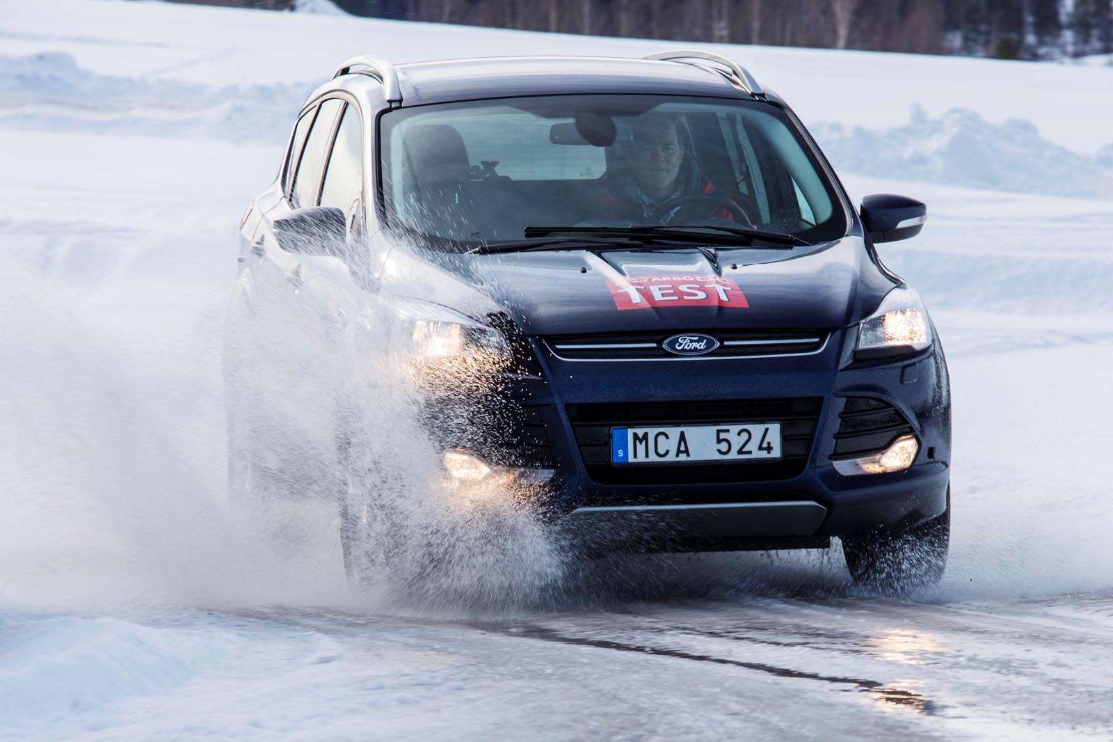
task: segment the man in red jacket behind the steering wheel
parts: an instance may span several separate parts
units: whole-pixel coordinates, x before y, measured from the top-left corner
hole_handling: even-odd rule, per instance
[[[632,128],[632,141],[624,145],[623,172],[605,178],[608,187],[597,204],[601,215],[644,223],[654,219],[656,214],[654,221],[668,222],[676,214],[658,214],[661,205],[680,196],[715,193],[711,178],[699,172],[695,159],[680,146],[677,119],[641,116],[633,120]],[[735,221],[721,206],[706,216]]]

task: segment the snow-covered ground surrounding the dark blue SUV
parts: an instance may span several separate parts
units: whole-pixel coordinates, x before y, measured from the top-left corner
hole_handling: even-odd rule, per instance
[[[856,594],[837,549],[603,563],[502,611],[380,601],[326,515],[290,557],[229,508],[236,219],[301,96],[363,52],[669,46],[0,0],[0,738],[1113,733],[1107,67],[728,49],[854,196],[929,205],[883,246],[954,387],[953,556],[917,601]]]

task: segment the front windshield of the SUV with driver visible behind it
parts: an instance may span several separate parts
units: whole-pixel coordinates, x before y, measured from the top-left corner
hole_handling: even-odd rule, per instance
[[[434,244],[522,241],[531,226],[846,233],[829,179],[768,104],[504,98],[401,108],[381,127],[386,222]]]

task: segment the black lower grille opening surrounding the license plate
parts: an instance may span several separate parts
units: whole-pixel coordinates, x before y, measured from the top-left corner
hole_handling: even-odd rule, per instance
[[[604,485],[669,485],[769,481],[804,471],[823,399],[742,399],[697,402],[621,402],[569,404],[572,431],[588,475]],[[721,463],[611,465],[611,428],[677,424],[779,422],[781,460]]]

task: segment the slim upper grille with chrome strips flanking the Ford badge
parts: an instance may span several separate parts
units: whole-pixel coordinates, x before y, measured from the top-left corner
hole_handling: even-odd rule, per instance
[[[819,351],[827,342],[826,330],[691,330],[708,334],[719,341],[710,353],[695,358],[747,358],[754,355],[805,355]],[[549,335],[545,344],[556,355],[571,361],[631,359],[682,360],[673,355],[661,342],[677,331],[589,333],[579,335]]]

